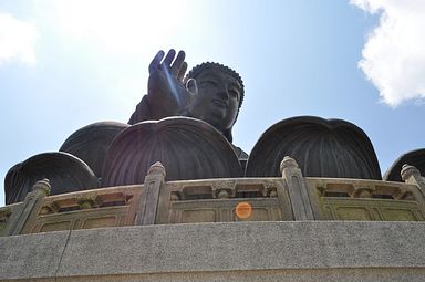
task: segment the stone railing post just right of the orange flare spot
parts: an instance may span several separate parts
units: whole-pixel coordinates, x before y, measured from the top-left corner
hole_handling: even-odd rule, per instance
[[[286,156],[280,171],[289,192],[294,220],[314,220],[309,191],[297,161]]]

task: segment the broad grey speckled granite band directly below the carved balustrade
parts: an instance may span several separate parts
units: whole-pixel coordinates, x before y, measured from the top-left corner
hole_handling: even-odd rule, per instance
[[[0,280],[388,268],[424,274],[424,233],[425,222],[281,221],[4,237]]]

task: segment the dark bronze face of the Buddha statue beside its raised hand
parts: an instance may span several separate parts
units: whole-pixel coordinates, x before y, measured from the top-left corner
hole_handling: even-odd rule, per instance
[[[203,119],[219,132],[230,129],[238,114],[241,85],[218,67],[204,70],[195,77],[198,96],[190,116]]]

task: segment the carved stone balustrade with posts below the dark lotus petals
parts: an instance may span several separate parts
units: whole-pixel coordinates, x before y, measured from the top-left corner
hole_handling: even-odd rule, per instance
[[[48,196],[37,182],[23,202],[0,208],[0,234],[13,236],[103,227],[232,221],[424,221],[425,181],[405,166],[405,182],[303,177],[286,157],[282,177],[165,181],[154,164],[143,185]],[[235,209],[248,202],[251,213]]]

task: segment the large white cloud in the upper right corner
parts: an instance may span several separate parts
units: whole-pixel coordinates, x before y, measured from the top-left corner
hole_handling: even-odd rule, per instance
[[[350,0],[380,24],[369,34],[359,66],[395,107],[425,97],[425,1]]]

